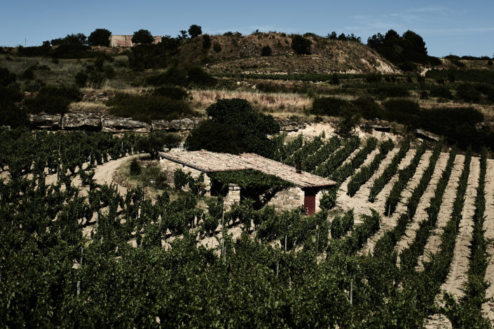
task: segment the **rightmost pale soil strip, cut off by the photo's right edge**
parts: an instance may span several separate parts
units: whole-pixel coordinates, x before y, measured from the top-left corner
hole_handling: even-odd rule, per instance
[[[490,256],[485,278],[490,283],[486,289],[486,298],[494,298],[494,160],[487,160],[485,214],[483,229],[486,230],[484,237],[487,240],[487,254]],[[494,300],[483,303],[482,312],[494,323]]]

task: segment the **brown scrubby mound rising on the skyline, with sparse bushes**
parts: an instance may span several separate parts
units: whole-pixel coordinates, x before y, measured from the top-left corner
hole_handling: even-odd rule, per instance
[[[292,36],[284,33],[256,33],[248,36],[210,36],[212,46],[203,49],[203,37],[181,45],[180,57],[188,62],[207,64],[213,73],[399,73],[377,52],[362,43],[328,40],[306,35],[312,55],[296,55]],[[216,46],[216,51],[214,45]],[[273,54],[261,56],[268,45]]]

